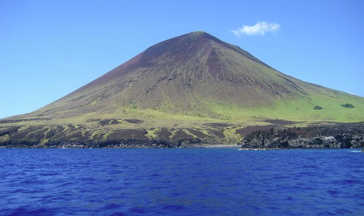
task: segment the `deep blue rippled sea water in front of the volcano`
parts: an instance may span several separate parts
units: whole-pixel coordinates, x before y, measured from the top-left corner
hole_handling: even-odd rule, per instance
[[[364,215],[358,149],[0,149],[0,215]]]

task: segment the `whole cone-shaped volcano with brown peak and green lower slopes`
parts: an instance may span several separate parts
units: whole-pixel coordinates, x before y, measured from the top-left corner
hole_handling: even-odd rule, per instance
[[[149,47],[34,112],[1,119],[0,141],[238,142],[255,129],[359,122],[362,113],[362,97],[287,76],[237,46],[193,32]]]

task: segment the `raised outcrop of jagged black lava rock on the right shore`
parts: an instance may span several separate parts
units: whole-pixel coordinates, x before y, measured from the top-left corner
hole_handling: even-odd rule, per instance
[[[242,143],[242,149],[363,147],[364,123],[257,130],[247,135]]]

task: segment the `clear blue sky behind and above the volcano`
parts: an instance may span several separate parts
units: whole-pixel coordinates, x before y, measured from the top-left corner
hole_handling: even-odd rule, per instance
[[[290,76],[364,96],[363,10],[364,1],[353,0],[2,0],[0,118],[34,111],[194,31]]]

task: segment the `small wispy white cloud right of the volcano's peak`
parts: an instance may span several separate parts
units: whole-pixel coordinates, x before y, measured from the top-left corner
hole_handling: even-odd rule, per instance
[[[254,26],[243,26],[231,32],[238,37],[243,35],[264,35],[267,32],[275,33],[280,27],[277,23],[258,22]]]

